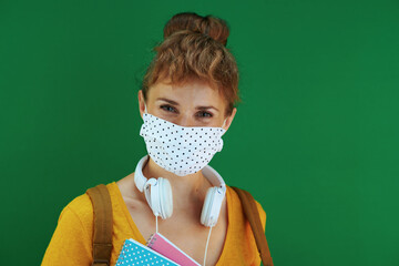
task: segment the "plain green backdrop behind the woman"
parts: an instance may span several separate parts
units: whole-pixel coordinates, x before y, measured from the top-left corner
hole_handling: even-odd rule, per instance
[[[39,265],[63,206],[134,171],[140,81],[182,11],[231,25],[243,102],[211,165],[262,203],[275,264],[399,265],[393,0],[1,1],[1,264]]]

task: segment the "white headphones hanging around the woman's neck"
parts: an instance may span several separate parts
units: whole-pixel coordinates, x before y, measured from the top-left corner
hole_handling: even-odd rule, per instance
[[[158,177],[147,180],[143,175],[143,165],[149,160],[145,155],[140,160],[134,172],[134,183],[139,191],[145,194],[145,198],[155,216],[161,216],[163,219],[172,216],[173,198],[172,187],[168,180]],[[208,188],[201,213],[201,224],[207,227],[213,227],[217,223],[221,213],[223,198],[226,194],[226,184],[222,176],[209,165],[203,170],[204,176],[214,185]]]

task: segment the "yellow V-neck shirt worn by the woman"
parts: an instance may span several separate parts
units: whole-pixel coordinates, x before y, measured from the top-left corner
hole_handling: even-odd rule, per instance
[[[113,249],[111,265],[115,265],[123,242],[133,238],[145,245],[146,241],[134,224],[121,192],[115,182],[106,185],[113,211]],[[216,266],[222,265],[260,265],[256,243],[242,212],[236,192],[227,186],[227,234],[222,255]],[[266,213],[256,202],[265,228]],[[93,237],[93,206],[88,194],[69,203],[59,217],[58,226],[45,250],[42,266],[53,265],[91,265]]]

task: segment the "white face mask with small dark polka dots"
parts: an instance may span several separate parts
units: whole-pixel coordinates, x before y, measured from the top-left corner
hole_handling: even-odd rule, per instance
[[[143,120],[140,135],[144,137],[149,155],[176,175],[198,172],[222,151],[222,135],[226,132],[223,127],[181,126],[149,114],[146,108]]]

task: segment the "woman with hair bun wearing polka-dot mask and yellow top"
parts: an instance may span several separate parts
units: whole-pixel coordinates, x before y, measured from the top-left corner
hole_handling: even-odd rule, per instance
[[[238,71],[225,48],[227,37],[225,21],[214,17],[180,13],[166,23],[139,92],[140,134],[150,156],[134,173],[106,185],[114,217],[111,265],[126,238],[145,244],[155,231],[198,263],[206,257],[206,265],[260,264],[237,194],[207,166],[236,114]],[[172,202],[155,211],[145,193],[161,180],[172,188]],[[203,206],[212,193],[222,196],[218,218],[209,222]],[[256,204],[265,227],[266,214]],[[62,211],[42,265],[91,265],[92,235],[93,207],[84,194]]]

